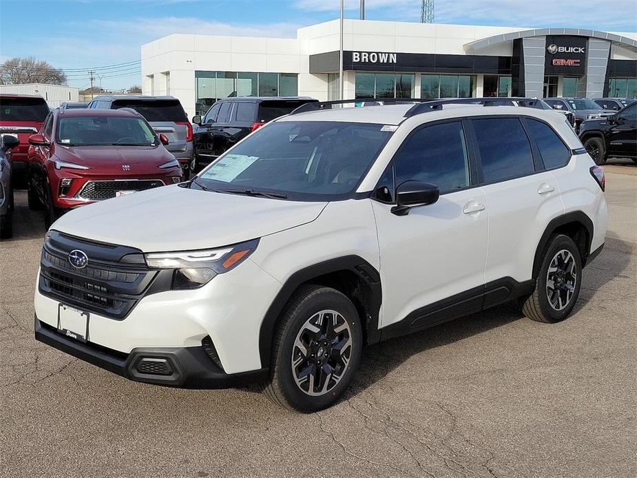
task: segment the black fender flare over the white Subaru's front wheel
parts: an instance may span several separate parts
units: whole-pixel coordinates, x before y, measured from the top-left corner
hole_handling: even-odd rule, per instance
[[[270,304],[259,330],[259,355],[262,368],[268,368],[270,366],[274,331],[279,317],[294,291],[301,284],[311,282],[312,279],[340,271],[351,271],[355,273],[370,287],[372,291],[370,300],[372,303],[369,317],[361,318],[361,320],[367,320],[367,343],[372,344],[380,340],[380,331],[378,329],[380,304],[382,303],[380,273],[372,264],[360,256],[343,256],[330,259],[293,273],[288,280],[285,281]]]

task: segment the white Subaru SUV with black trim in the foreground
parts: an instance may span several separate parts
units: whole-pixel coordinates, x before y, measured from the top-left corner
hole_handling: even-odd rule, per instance
[[[187,183],[57,220],[36,338],[138,382],[261,383],[309,412],[368,344],[508,300],[570,314],[607,207],[564,118],[331,106],[257,129]]]

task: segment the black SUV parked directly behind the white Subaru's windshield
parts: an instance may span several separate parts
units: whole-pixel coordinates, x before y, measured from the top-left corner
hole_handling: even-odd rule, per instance
[[[194,133],[195,172],[268,121],[317,101],[309,96],[233,96],[217,101],[205,116],[192,118],[198,125]]]

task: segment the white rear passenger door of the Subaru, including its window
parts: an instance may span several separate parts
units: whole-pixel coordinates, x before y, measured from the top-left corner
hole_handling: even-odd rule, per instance
[[[557,181],[534,154],[520,118],[489,116],[470,123],[489,220],[485,281],[530,280],[540,236],[563,214]]]

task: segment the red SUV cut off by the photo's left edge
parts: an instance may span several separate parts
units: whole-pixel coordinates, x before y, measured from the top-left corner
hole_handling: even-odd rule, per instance
[[[42,96],[28,94],[0,94],[0,135],[10,135],[20,142],[12,149],[11,166],[14,184],[26,174],[29,136],[39,132],[49,114]]]

